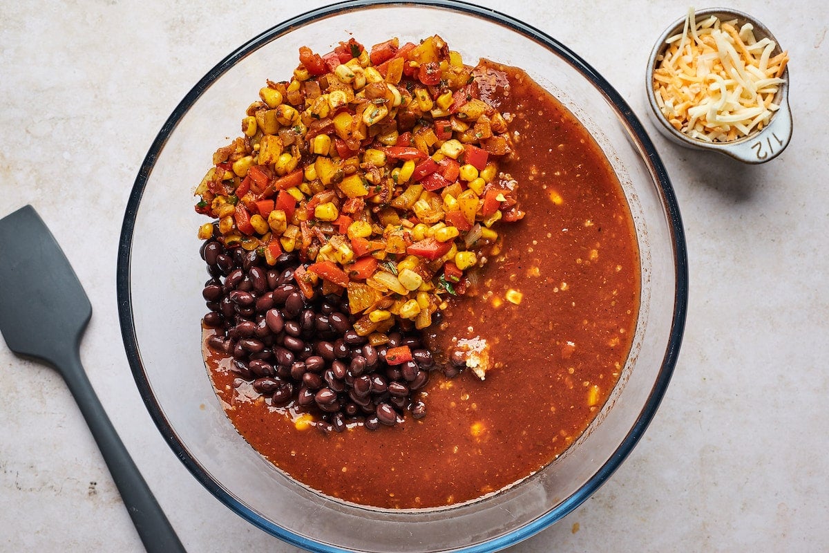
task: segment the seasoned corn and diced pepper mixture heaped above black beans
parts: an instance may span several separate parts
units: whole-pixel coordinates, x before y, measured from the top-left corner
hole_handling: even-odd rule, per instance
[[[508,115],[479,97],[475,71],[439,36],[366,50],[353,38],[299,50],[288,81],[268,81],[239,138],[196,188],[202,240],[299,252],[306,298],[347,294],[354,329],[385,342],[395,323],[429,327],[446,294],[524,213],[499,171]]]

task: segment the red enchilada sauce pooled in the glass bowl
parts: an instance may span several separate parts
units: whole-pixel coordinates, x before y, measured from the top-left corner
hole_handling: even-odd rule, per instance
[[[428,416],[374,432],[322,433],[269,405],[224,353],[206,347],[216,392],[240,434],[328,496],[439,507],[510,486],[579,437],[628,356],[640,274],[618,179],[557,100],[521,70],[490,67],[497,90],[482,96],[511,115],[515,154],[500,169],[520,183],[526,217],[501,227],[500,252],[470,274],[468,293],[449,299],[425,340],[447,366],[458,348],[485,352],[485,380],[469,368],[453,378],[432,371],[422,390]]]

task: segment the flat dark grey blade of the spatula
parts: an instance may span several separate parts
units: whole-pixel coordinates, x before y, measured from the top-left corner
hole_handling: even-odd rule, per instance
[[[32,206],[0,219],[0,333],[12,352],[54,364],[77,347],[92,305]]]

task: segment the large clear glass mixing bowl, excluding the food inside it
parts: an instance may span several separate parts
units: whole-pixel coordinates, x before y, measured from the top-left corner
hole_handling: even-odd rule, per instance
[[[434,34],[466,61],[517,65],[589,129],[618,173],[642,258],[642,304],[623,375],[589,429],[541,471],[491,497],[395,512],[324,497],[261,457],[225,416],[201,357],[201,286],[192,191],[206,160],[239,132],[266,78],[290,75],[300,46],[327,51],[355,36]],[[486,38],[483,38],[486,37]],[[657,410],[681,342],[686,250],[676,199],[642,124],[566,46],[462,2],[343,2],[264,32],[213,68],[177,106],[145,158],[120,241],[118,295],[135,381],[167,443],[210,492],[255,526],[310,551],[496,551],[560,520],[618,468]]]

